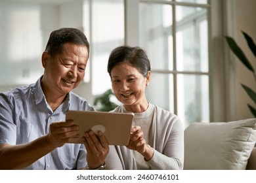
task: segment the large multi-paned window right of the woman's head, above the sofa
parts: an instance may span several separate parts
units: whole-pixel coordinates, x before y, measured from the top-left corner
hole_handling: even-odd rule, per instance
[[[177,114],[185,127],[209,122],[207,1],[137,1],[137,6],[139,41],[131,44],[145,48],[151,61],[148,100]],[[132,22],[127,27],[134,29]]]

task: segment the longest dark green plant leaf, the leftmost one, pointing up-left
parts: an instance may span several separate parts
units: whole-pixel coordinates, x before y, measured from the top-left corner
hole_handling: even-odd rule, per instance
[[[244,52],[241,50],[241,48],[236,44],[234,39],[232,37],[225,36],[226,41],[228,42],[228,46],[232,50],[232,52],[244,63],[245,67],[247,67],[250,71],[254,73],[253,66],[249,62],[249,60],[246,58]]]

